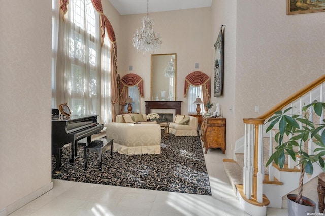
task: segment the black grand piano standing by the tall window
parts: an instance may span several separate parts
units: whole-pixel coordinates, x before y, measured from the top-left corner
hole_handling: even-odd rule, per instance
[[[77,158],[78,141],[87,137],[89,145],[91,135],[98,134],[103,125],[97,122],[98,115],[72,115],[69,117],[52,117],[52,155],[55,156],[55,171],[60,171],[62,147],[71,143],[71,159]]]

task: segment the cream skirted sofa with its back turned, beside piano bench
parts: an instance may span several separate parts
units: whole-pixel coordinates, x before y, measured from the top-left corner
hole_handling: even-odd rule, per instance
[[[114,139],[113,152],[124,155],[161,154],[158,124],[107,124],[106,137]]]

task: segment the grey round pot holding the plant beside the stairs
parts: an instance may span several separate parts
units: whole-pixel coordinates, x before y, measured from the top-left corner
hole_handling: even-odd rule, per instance
[[[303,205],[295,202],[297,194],[288,194],[288,213],[289,216],[311,215],[315,213],[316,203],[311,199],[303,196]]]

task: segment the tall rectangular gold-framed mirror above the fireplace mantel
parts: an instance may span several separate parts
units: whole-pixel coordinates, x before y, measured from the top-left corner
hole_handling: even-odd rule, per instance
[[[151,100],[176,101],[176,53],[151,55]]]

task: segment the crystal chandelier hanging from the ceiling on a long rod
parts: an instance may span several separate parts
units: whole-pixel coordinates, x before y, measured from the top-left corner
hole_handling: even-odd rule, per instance
[[[138,52],[157,51],[159,45],[163,43],[159,34],[155,35],[153,31],[154,21],[149,17],[149,0],[147,1],[147,16],[142,18],[142,27],[140,31],[136,31],[133,35],[133,46],[137,48]]]

